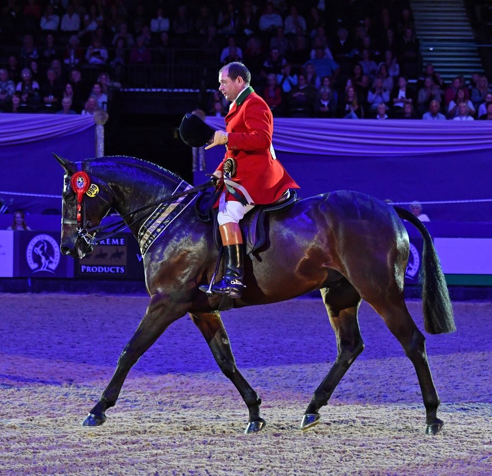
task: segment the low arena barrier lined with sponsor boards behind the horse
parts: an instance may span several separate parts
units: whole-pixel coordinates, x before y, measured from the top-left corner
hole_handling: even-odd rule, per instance
[[[5,228],[6,216],[0,215]],[[144,279],[142,255],[130,233],[103,240],[84,259],[60,253],[59,217],[30,216],[32,232],[0,231],[0,278]],[[50,223],[38,231],[36,224]],[[429,222],[426,224],[449,285],[492,286],[492,223]],[[418,284],[422,237],[411,225],[407,285]]]

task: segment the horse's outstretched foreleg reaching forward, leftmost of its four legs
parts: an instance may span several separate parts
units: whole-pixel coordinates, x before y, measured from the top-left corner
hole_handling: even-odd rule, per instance
[[[105,412],[108,408],[114,407],[131,367],[156,342],[169,324],[183,316],[185,312],[174,308],[162,297],[154,296],[151,299],[144,318],[118,358],[116,370],[108,386],[82,423],[84,426],[100,426],[106,421]]]

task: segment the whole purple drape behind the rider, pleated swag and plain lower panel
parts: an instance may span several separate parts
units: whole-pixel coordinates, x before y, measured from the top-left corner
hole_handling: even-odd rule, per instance
[[[206,122],[224,129],[223,118]],[[492,221],[490,121],[275,118],[273,147],[301,197],[357,190],[424,202],[431,220]],[[207,150],[206,172],[223,155],[222,146]]]

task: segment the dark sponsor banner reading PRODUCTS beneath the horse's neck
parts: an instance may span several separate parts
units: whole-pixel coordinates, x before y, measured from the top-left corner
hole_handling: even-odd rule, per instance
[[[144,279],[137,241],[130,233],[101,240],[90,254],[75,260],[74,275],[88,279]]]

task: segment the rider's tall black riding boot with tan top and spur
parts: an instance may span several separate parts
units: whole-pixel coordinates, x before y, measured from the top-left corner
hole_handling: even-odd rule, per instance
[[[237,223],[226,223],[219,227],[220,237],[224,246],[225,270],[219,283],[212,285],[214,294],[225,294],[237,299],[241,297],[246,286],[243,284],[243,239]],[[208,291],[208,286],[200,286],[200,290]]]

